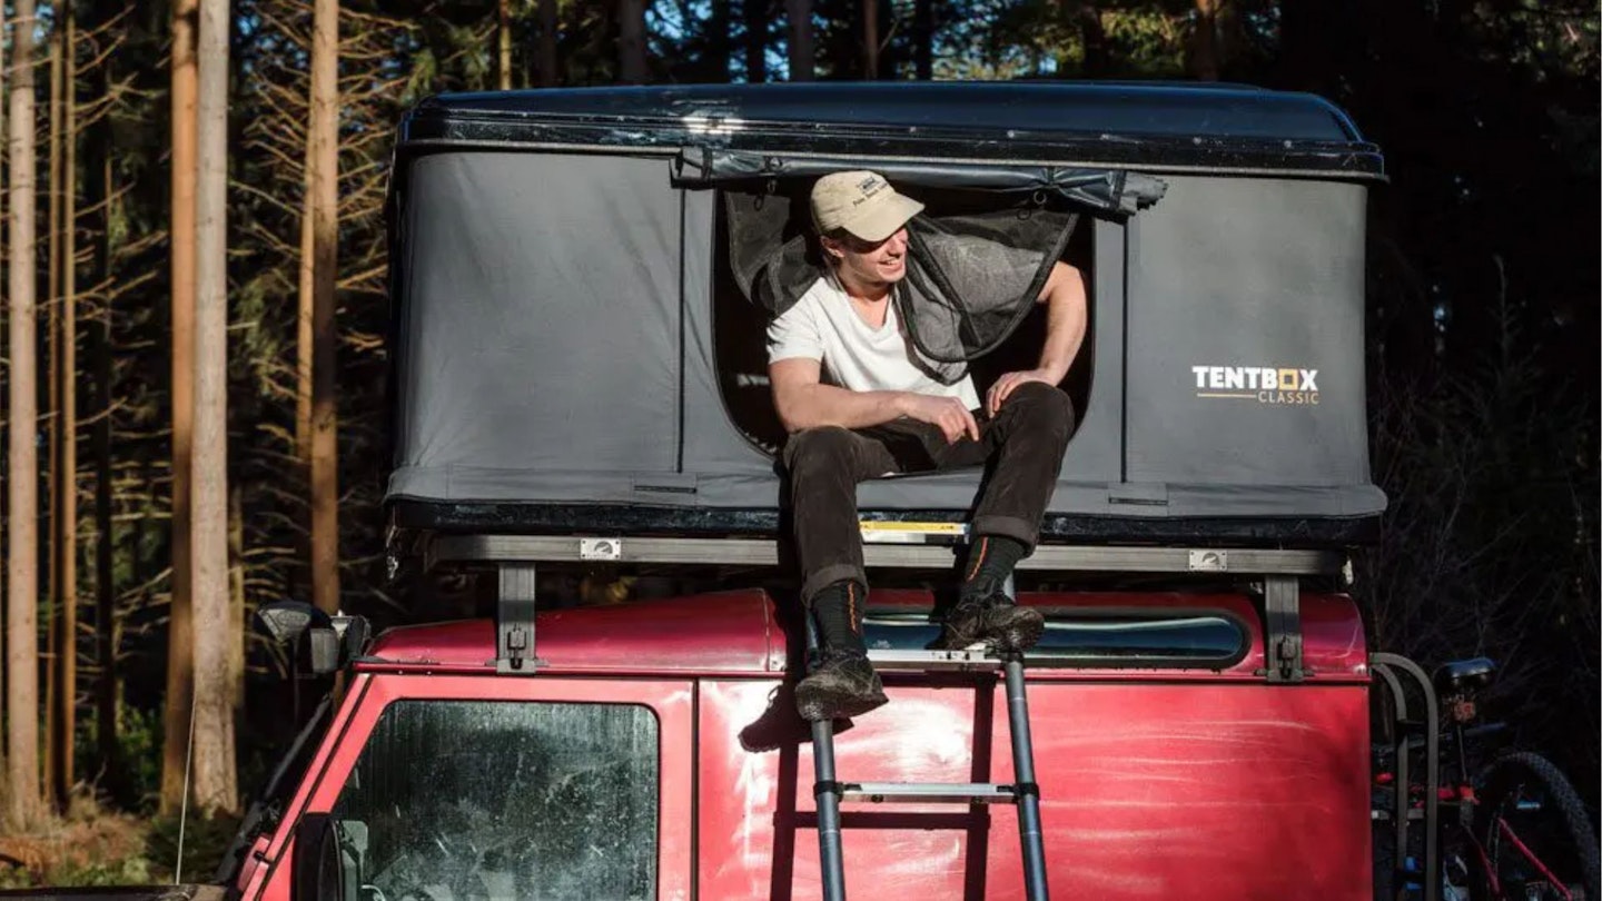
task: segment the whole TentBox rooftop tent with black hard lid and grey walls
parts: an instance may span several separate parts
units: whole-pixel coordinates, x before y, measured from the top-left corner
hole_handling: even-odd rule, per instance
[[[1028,194],[1097,170],[1109,178],[1089,183],[1160,186],[1149,205],[1083,202],[1089,388],[1045,540],[1350,543],[1384,510],[1363,380],[1367,192],[1384,165],[1320,98],[1133,83],[447,95],[405,117],[394,165],[399,526],[775,532],[779,468],[731,420],[718,366],[718,197],[839,165],[931,189]],[[859,503],[960,519],[979,479],[879,479]]]

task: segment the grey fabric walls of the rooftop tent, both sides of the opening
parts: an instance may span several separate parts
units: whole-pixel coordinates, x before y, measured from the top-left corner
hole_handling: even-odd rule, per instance
[[[678,186],[671,160],[609,152],[447,151],[404,167],[389,500],[780,505],[775,460],[732,418],[719,369],[729,346],[759,359],[763,341],[719,313],[751,311],[732,293],[719,191]],[[1365,189],[1165,178],[1152,210],[1091,221],[1089,402],[1049,511],[1381,511],[1362,390]],[[1317,370],[1318,402],[1198,396],[1211,367]],[[980,478],[878,479],[859,503],[969,510]]]

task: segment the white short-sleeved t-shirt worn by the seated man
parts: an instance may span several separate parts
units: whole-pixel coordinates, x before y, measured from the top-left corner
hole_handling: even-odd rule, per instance
[[[851,391],[913,391],[958,398],[979,409],[974,380],[952,385],[934,378],[918,361],[902,329],[896,303],[886,301],[884,325],[868,327],[831,276],[820,277],[783,316],[767,325],[767,361],[806,358],[823,367],[823,380]]]

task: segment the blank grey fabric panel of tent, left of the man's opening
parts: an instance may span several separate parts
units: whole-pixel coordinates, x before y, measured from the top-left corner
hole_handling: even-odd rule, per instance
[[[625,157],[412,164],[394,484],[489,497],[466,486],[676,470],[679,196],[663,176]]]

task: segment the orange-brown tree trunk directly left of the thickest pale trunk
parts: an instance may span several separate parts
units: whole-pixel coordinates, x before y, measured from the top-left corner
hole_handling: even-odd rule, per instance
[[[189,465],[194,450],[195,316],[195,30],[199,0],[173,5],[173,500],[171,616],[167,625],[167,704],[162,715],[162,813],[183,805],[194,704],[194,593],[191,585]]]

